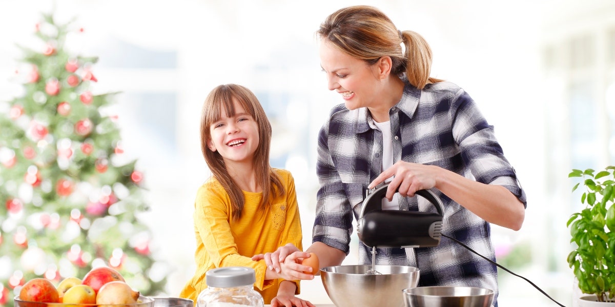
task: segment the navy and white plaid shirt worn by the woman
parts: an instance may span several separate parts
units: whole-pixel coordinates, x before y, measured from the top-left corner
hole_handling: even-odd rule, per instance
[[[466,178],[509,189],[526,205],[526,196],[490,126],[472,98],[450,82],[418,90],[407,83],[403,97],[389,110],[395,161],[437,165]],[[352,213],[358,218],[365,189],[382,172],[383,140],[367,108],[331,110],[318,138],[317,194],[313,242],[349,253]],[[437,189],[443,233],[495,261],[490,224]],[[436,212],[423,197],[398,197],[400,210]],[[371,264],[371,249],[359,245],[359,261]],[[378,249],[378,265],[416,266],[419,285],[465,285],[493,289],[496,266],[442,237],[437,247]]]

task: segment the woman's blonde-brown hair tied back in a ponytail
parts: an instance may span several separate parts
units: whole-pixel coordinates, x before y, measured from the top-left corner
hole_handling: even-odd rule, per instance
[[[339,9],[325,19],[316,34],[345,54],[365,60],[369,65],[381,57],[391,57],[391,73],[406,73],[408,82],[417,89],[442,81],[429,76],[432,54],[423,36],[414,31],[397,30],[391,19],[375,7]]]

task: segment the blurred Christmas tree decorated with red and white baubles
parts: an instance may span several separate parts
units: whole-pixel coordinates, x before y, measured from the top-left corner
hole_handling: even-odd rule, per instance
[[[122,156],[117,93],[94,94],[95,57],[66,50],[73,22],[43,15],[41,50],[20,47],[22,97],[0,102],[0,305],[13,306],[21,285],[56,285],[95,266],[119,271],[142,295],[163,293],[161,262],[151,255],[143,174]]]

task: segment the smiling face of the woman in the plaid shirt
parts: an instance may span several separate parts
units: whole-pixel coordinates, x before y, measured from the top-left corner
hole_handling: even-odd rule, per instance
[[[320,66],[327,74],[329,90],[338,92],[346,108],[354,110],[375,107],[381,83],[378,66],[368,65],[364,60],[344,54],[330,42],[320,44]]]

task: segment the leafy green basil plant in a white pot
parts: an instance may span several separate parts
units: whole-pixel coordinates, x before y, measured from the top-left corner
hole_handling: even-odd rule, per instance
[[[566,223],[576,249],[568,254],[579,289],[588,295],[579,306],[615,306],[615,166],[596,172],[573,169],[568,177],[579,177],[573,187],[584,191],[584,208],[573,213]],[[590,303],[612,302],[612,303]],[[587,302],[587,303],[585,303]]]

